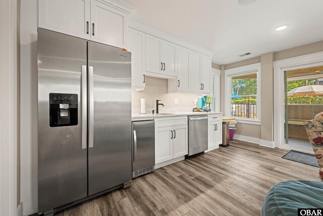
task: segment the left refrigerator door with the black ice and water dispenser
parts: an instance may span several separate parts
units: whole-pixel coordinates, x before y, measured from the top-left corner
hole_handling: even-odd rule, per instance
[[[82,69],[84,74],[86,40],[38,29],[38,212],[87,196]],[[53,118],[66,122],[50,127]]]

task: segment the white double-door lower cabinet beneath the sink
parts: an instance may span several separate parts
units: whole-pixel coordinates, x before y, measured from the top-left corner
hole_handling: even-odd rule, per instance
[[[185,124],[179,123],[182,119]],[[172,123],[173,125],[170,125]],[[155,119],[155,163],[184,156],[187,152],[187,116]]]

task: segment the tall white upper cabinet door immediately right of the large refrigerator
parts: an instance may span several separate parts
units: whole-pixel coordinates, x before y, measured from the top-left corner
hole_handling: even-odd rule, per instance
[[[145,33],[133,28],[128,30],[128,50],[131,52],[131,86],[145,89]]]

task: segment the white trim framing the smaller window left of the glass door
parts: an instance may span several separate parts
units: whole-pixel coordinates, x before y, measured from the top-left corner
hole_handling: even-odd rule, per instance
[[[225,115],[231,115],[231,77],[247,73],[257,73],[257,119],[236,117],[238,123],[261,124],[261,63],[250,64],[225,70]]]

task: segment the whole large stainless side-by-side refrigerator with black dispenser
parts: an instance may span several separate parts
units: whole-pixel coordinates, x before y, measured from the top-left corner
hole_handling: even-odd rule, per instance
[[[131,174],[131,53],[39,28],[38,212],[125,187]]]

